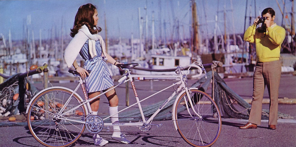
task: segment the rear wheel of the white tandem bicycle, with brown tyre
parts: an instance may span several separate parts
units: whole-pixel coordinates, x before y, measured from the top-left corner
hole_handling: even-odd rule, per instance
[[[71,94],[71,91],[63,88],[49,89],[36,96],[29,106],[28,127],[33,137],[42,145],[48,147],[70,146],[83,133],[85,125],[82,123],[61,119],[54,121],[54,114],[65,104]],[[81,99],[74,93],[63,112],[78,106],[79,102],[81,102]],[[47,110],[45,109],[46,106],[48,107]],[[85,121],[86,115],[85,105],[82,105],[62,117]],[[57,126],[58,130],[56,130]]]

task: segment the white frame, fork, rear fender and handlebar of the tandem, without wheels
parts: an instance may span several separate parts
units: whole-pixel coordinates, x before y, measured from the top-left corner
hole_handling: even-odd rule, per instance
[[[199,66],[194,65],[194,64],[190,64],[190,65],[188,65],[188,67],[196,67],[198,70],[200,70],[200,73],[199,73],[198,75],[194,75],[194,76],[192,76],[192,77],[197,77],[197,76],[200,76],[200,75],[202,74],[202,69],[201,69]],[[203,70],[204,70],[204,69],[203,69]],[[116,86],[114,86],[114,87],[112,87],[112,88],[110,88],[108,91],[110,91],[110,90],[112,90],[112,89],[118,87],[119,85],[122,85],[123,83],[126,83],[126,82],[130,81],[137,102],[134,103],[134,104],[132,104],[132,105],[130,105],[130,106],[128,106],[128,107],[126,107],[126,108],[124,108],[124,109],[122,109],[122,110],[120,110],[120,111],[118,111],[118,113],[123,112],[124,110],[129,109],[130,107],[132,107],[132,106],[134,106],[134,105],[138,105],[138,107],[139,107],[139,111],[140,111],[140,114],[141,114],[141,117],[142,117],[142,122],[104,123],[104,126],[143,126],[144,124],[148,124],[148,125],[149,125],[149,123],[152,122],[152,120],[154,119],[154,117],[155,117],[155,116],[156,116],[156,115],[157,115],[157,114],[163,109],[163,107],[164,107],[164,106],[165,106],[165,105],[166,105],[166,104],[167,104],[167,103],[168,103],[168,102],[169,102],[169,101],[170,101],[170,100],[171,100],[171,99],[172,99],[172,98],[173,98],[178,92],[180,92],[180,91],[181,91],[181,92],[180,92],[180,94],[177,96],[177,98],[178,98],[179,96],[181,96],[182,93],[186,92],[186,95],[187,95],[188,100],[186,100],[186,98],[185,98],[185,101],[189,101],[189,104],[192,106],[192,100],[191,100],[191,98],[189,98],[189,97],[190,97],[190,95],[189,95],[190,92],[189,92],[189,89],[186,87],[185,82],[184,82],[184,78],[186,78],[186,75],[183,75],[183,74],[181,74],[181,73],[180,73],[180,74],[177,74],[177,75],[130,75],[130,74],[129,74],[129,73],[130,73],[129,70],[126,69],[126,71],[128,71],[128,76],[124,75],[121,79],[118,80],[119,84],[116,85]],[[185,76],[185,77],[184,77],[184,76]],[[164,89],[162,89],[162,90],[160,90],[160,91],[158,91],[158,92],[156,92],[156,93],[154,93],[154,94],[152,94],[152,95],[150,95],[150,96],[148,96],[148,97],[146,97],[146,98],[144,98],[144,99],[142,99],[142,100],[140,101],[140,100],[139,100],[139,97],[138,97],[138,94],[137,94],[137,92],[136,92],[136,88],[135,88],[134,83],[133,83],[133,78],[135,78],[135,79],[137,79],[137,80],[178,80],[178,82],[173,83],[172,85],[170,85],[170,86],[168,86],[168,87],[166,87],[166,88],[164,88]],[[167,99],[167,100],[166,100],[166,101],[160,106],[159,109],[157,109],[157,110],[154,112],[154,114],[152,114],[152,116],[151,116],[148,120],[145,120],[145,116],[144,116],[144,113],[143,113],[143,110],[142,110],[142,107],[141,107],[141,104],[140,104],[140,103],[141,103],[142,101],[147,100],[148,98],[151,98],[152,96],[155,96],[156,94],[158,94],[158,93],[160,93],[160,92],[162,92],[162,91],[167,90],[168,88],[171,88],[171,87],[175,86],[175,85],[178,85],[178,88],[175,89],[175,91],[173,92],[173,94],[172,94],[172,95],[171,95],[171,96],[170,96],[170,97],[169,97],[169,98],[168,98],[168,99]],[[76,93],[76,91],[78,90],[79,86],[82,87],[82,90],[83,90],[83,94],[84,94],[85,100],[83,100],[83,99],[78,95],[78,93]],[[98,96],[89,99],[89,98],[87,97],[86,91],[85,91],[85,89],[84,89],[83,81],[82,81],[81,77],[79,76],[79,83],[78,83],[78,85],[77,85],[77,87],[75,88],[74,91],[71,90],[71,89],[69,89],[69,88],[60,87],[60,86],[55,86],[55,87],[49,87],[49,88],[46,88],[46,89],[40,91],[39,93],[37,93],[37,94],[31,99],[31,101],[29,102],[29,104],[28,104],[29,106],[27,107],[26,113],[28,113],[28,109],[29,109],[30,106],[32,106],[32,107],[36,107],[36,106],[33,106],[33,105],[32,105],[32,101],[36,98],[36,96],[38,96],[40,93],[42,93],[42,92],[44,92],[44,91],[46,91],[46,90],[54,89],[54,88],[62,88],[62,89],[66,89],[66,90],[72,92],[72,94],[70,95],[70,97],[67,99],[66,103],[62,106],[62,108],[61,108],[60,111],[58,112],[59,115],[58,115],[57,119],[62,119],[62,120],[67,120],[67,121],[72,121],[72,122],[78,122],[78,123],[82,123],[82,124],[85,124],[86,122],[85,122],[85,121],[80,121],[80,120],[67,119],[67,118],[63,117],[63,115],[65,115],[65,114],[67,114],[67,113],[69,113],[69,112],[71,112],[71,111],[77,109],[78,107],[80,107],[80,106],[82,106],[82,105],[84,105],[84,106],[87,108],[87,109],[86,109],[86,114],[89,114],[89,115],[92,114],[92,111],[91,111],[91,107],[90,107],[89,102],[92,101],[92,100],[94,100],[94,99],[96,99],[96,98],[99,97],[99,96],[102,96],[103,94],[105,94],[105,93],[108,92],[108,91],[105,91],[105,92],[103,92],[103,93],[100,93]],[[197,89],[197,88],[190,88],[190,89]],[[63,112],[63,111],[65,110],[67,104],[69,103],[70,99],[72,98],[73,94],[75,94],[75,95],[81,100],[82,103],[79,104],[78,106],[73,107],[72,109],[69,109],[69,110],[66,111],[66,112]],[[176,103],[177,103],[177,100],[178,100],[177,98],[176,98],[176,100],[175,100],[175,102],[174,102],[174,104],[173,104],[173,108],[172,108],[173,110],[172,110],[172,112],[174,112],[174,110],[175,110],[175,106],[176,106]],[[190,110],[189,110],[188,104],[187,104],[187,103],[185,103],[185,104],[186,104],[186,107],[187,107],[187,111],[189,112]],[[193,111],[198,117],[201,117],[201,116],[198,114],[198,112],[196,112],[194,109],[192,109],[192,111]],[[63,112],[63,113],[62,113],[62,112]],[[49,112],[49,113],[51,113],[51,112]],[[116,113],[116,114],[118,114],[118,113]],[[190,113],[189,113],[189,114],[190,114]],[[113,115],[115,115],[115,114],[113,114]],[[110,116],[104,118],[103,121],[106,120],[106,119],[108,119],[108,118],[110,118],[110,117],[112,117],[113,115],[110,115]],[[173,124],[174,124],[174,129],[177,130],[177,126],[176,126],[176,118],[175,118],[175,116],[174,116],[173,114],[172,114],[172,120],[173,120]],[[101,127],[103,127],[103,126],[101,126]],[[105,127],[104,127],[104,128],[105,128]]]

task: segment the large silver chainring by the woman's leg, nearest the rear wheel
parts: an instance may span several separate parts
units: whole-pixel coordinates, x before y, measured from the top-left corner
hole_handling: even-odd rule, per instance
[[[85,120],[86,129],[91,133],[99,133],[104,126],[103,119],[97,115],[90,115]]]

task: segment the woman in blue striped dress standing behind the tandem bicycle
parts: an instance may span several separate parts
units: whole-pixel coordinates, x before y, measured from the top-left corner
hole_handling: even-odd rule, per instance
[[[114,65],[120,64],[105,52],[104,40],[97,34],[102,30],[100,27],[96,27],[98,20],[98,12],[93,4],[79,7],[70,33],[73,39],[64,54],[68,67],[73,65],[80,76],[85,78],[86,91],[90,99],[98,96],[100,91],[107,91],[114,86],[106,61]],[[75,60],[78,53],[85,60],[84,67],[79,67]],[[87,70],[91,72],[89,73]],[[112,122],[118,122],[118,114],[116,114],[118,112],[118,96],[115,89],[105,93],[105,96],[109,101],[109,114],[115,114],[110,119]],[[93,115],[98,114],[99,102],[100,98],[98,97],[90,103]],[[122,143],[130,143],[125,135],[120,133],[119,126],[114,126],[113,130],[115,131],[112,134],[113,139]],[[98,134],[94,134],[93,139],[96,146],[108,143]]]

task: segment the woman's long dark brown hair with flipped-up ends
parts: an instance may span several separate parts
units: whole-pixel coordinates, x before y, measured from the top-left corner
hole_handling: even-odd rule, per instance
[[[75,16],[73,28],[70,29],[71,30],[71,33],[70,33],[71,37],[74,37],[78,33],[78,30],[83,25],[86,25],[87,28],[89,28],[89,32],[91,34],[96,34],[96,33],[102,31],[102,28],[96,27],[94,25],[93,16],[94,16],[95,10],[96,10],[96,7],[90,3],[79,7],[78,12],[76,13],[76,16]],[[94,27],[96,27],[97,29],[94,29]]]

